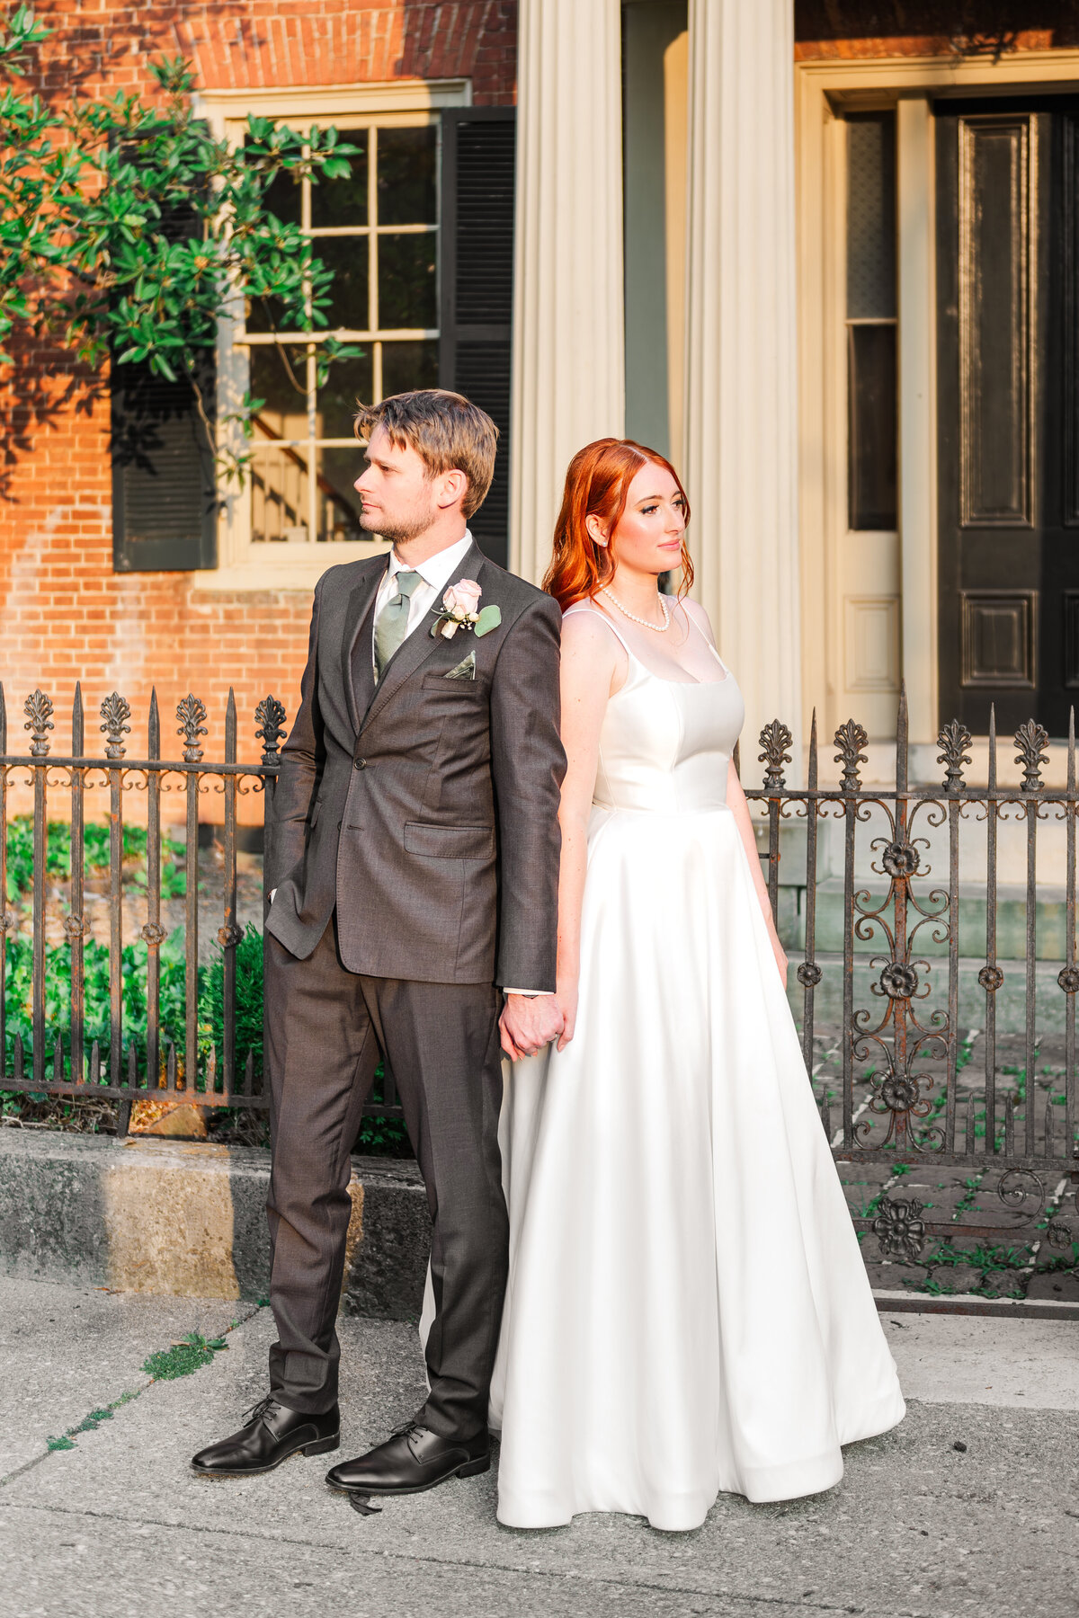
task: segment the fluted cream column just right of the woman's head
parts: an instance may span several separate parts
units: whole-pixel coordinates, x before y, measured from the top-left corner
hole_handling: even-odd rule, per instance
[[[686,474],[694,594],[755,738],[801,765],[793,0],[689,0]]]

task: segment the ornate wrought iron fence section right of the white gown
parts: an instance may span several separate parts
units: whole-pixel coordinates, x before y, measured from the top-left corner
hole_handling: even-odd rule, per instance
[[[791,762],[791,731],[776,720],[760,731],[764,785],[747,791],[767,817],[773,913],[780,909],[783,880],[793,879],[804,896],[796,938],[801,959],[789,951],[801,995],[791,998],[801,1000],[806,1066],[841,1173],[848,1188],[853,1175],[864,1175],[874,1192],[861,1210],[853,1209],[854,1223],[877,1238],[880,1257],[890,1262],[916,1264],[933,1241],[951,1244],[959,1238],[996,1244],[996,1252],[1005,1251],[1001,1244],[1026,1243],[1013,1260],[1016,1270],[1032,1272],[1039,1249],[1061,1256],[1056,1269],[1074,1269],[1074,712],[1063,786],[1043,780],[1050,738],[1034,720],[1014,735],[1014,762],[1022,770],[1014,786],[998,780],[995,718],[985,785],[977,786],[964,778],[972,736],[959,722],[941,726],[937,738],[940,785],[911,785],[906,694],[898,712],[895,786],[862,783],[867,741],[854,720],[841,725],[833,738],[840,781],[820,786],[814,717],[806,788],[789,788],[785,767]],[[804,869],[793,872],[788,861],[785,874],[783,833],[798,822],[804,827]],[[841,843],[831,879],[836,890],[841,885],[841,937],[836,940],[833,929],[838,948],[831,953],[819,950],[827,888],[820,835],[828,822]],[[971,822],[982,828],[974,846],[966,835]],[[1040,853],[1045,864],[1039,830],[1047,822],[1063,830],[1063,846],[1053,849],[1056,869],[1050,872],[1058,880],[1048,890],[1039,887]],[[1021,840],[1013,849],[1021,880],[1019,892],[1008,888],[1001,901],[1000,838],[1008,825]],[[969,874],[974,893],[964,883],[964,859],[975,867]],[[1022,914],[1021,935],[1011,916],[1011,958],[998,947],[1001,903]],[[1063,913],[1051,917],[1051,943],[1039,937],[1047,906]],[[1056,959],[1045,959],[1051,955]],[[827,974],[838,993],[822,1037],[817,1002]],[[1013,1021],[1001,1032],[1001,992],[1013,985],[1019,985],[1011,1000]],[[831,1079],[822,1078],[827,1045],[835,1052]],[[893,1189],[901,1194],[890,1196]]]

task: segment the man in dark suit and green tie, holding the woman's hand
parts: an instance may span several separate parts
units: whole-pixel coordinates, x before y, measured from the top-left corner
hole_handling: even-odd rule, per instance
[[[315,587],[273,804],[270,1393],[193,1466],[239,1477],[338,1446],[349,1152],[382,1057],[432,1217],[430,1391],[327,1482],[416,1493],[490,1464],[508,1239],[500,1044],[531,1055],[561,1032],[560,613],[468,531],[495,466],[484,411],[400,393],[356,430],[369,445],[362,524],[393,552]]]

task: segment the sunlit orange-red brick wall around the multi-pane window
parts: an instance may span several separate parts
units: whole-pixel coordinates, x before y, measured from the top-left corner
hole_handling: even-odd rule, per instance
[[[44,94],[146,91],[146,58],[183,53],[205,87],[346,84],[393,78],[471,78],[479,104],[511,104],[516,71],[513,0],[214,0],[141,3],[39,0],[57,32],[42,49]],[[87,707],[118,689],[133,707],[131,752],[146,744],[150,688],[171,718],[188,691],[209,709],[207,756],[220,757],[230,684],[241,759],[256,759],[254,705],[267,691],[296,712],[307,647],[306,592],[205,589],[207,574],[115,574],[108,398],[100,377],[70,354],[34,348],[0,390],[0,680],[10,746],[23,738],[23,701],[40,686],[57,704],[53,746],[70,746],[76,680]],[[58,804],[60,807],[60,804]],[[207,801],[202,817],[220,819]],[[260,803],[246,804],[260,819]]]

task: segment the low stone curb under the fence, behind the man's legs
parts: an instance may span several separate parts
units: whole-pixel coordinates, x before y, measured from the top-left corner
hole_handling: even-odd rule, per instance
[[[0,1275],[186,1298],[264,1298],[270,1154],[0,1129]],[[416,1163],[354,1157],[341,1307],[419,1317],[430,1244]]]

